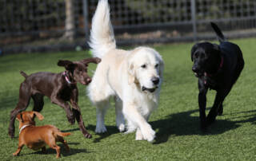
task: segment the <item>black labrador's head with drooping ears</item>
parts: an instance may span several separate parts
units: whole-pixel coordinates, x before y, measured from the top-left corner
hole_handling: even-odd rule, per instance
[[[205,73],[214,73],[218,69],[221,60],[218,45],[210,42],[202,42],[191,49],[191,61],[194,61],[192,71],[196,77],[202,77]]]

